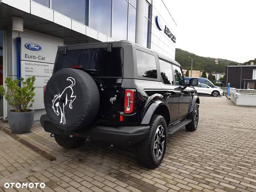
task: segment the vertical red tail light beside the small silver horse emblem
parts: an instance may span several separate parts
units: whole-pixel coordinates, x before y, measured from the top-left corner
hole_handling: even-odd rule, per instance
[[[125,90],[125,114],[130,114],[135,111],[135,98],[136,98],[136,90],[134,89],[126,89]]]

